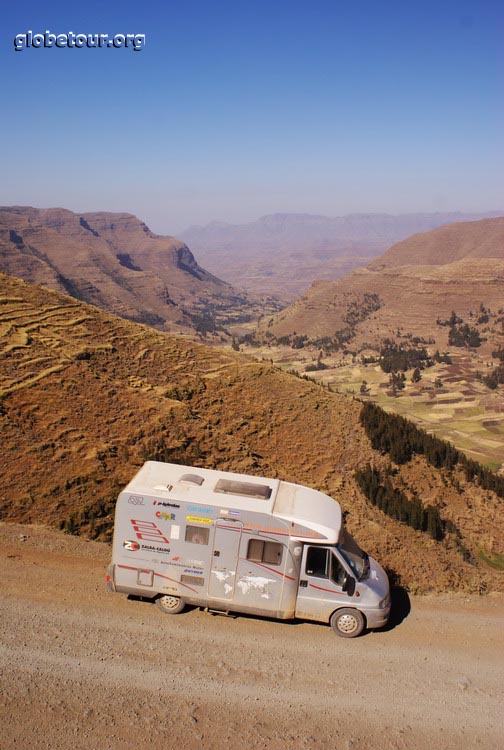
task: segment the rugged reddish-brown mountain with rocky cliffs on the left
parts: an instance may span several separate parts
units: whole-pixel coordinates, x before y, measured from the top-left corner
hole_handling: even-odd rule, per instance
[[[164,330],[212,330],[249,307],[131,214],[1,208],[0,270]]]

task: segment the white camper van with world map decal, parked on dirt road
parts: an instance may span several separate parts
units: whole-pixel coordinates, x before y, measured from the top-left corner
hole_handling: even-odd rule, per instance
[[[345,638],[386,624],[385,571],[339,504],[278,479],[148,461],[117,501],[110,590],[219,612],[330,623]]]

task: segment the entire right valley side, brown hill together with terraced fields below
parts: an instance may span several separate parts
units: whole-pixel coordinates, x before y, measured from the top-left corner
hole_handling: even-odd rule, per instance
[[[503,219],[400,242],[365,269],[315,282],[241,342],[504,469]]]

